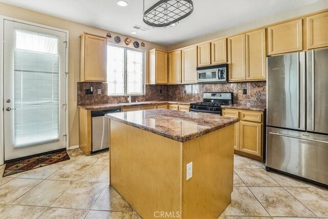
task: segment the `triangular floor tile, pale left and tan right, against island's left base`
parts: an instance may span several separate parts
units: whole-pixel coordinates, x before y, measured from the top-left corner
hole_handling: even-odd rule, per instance
[[[107,186],[99,195],[99,198],[91,208],[92,210],[105,211],[133,211],[133,208],[127,203],[115,189]]]

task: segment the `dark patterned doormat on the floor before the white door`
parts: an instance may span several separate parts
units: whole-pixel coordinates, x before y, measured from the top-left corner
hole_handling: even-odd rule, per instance
[[[6,164],[3,177],[67,160],[70,160],[70,157],[66,150],[63,150],[34,158],[10,162]]]

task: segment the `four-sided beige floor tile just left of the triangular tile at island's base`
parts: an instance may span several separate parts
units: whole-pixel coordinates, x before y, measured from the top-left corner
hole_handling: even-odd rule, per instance
[[[105,186],[105,183],[74,182],[51,207],[90,209]]]

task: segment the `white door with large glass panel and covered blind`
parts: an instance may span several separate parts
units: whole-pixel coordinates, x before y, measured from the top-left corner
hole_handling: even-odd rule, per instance
[[[66,41],[4,20],[5,161],[66,148]]]

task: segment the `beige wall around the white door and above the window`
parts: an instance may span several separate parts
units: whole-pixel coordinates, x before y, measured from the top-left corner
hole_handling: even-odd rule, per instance
[[[69,31],[69,97],[68,97],[68,105],[69,105],[69,145],[77,145],[78,144],[78,108],[77,108],[77,82],[79,81],[79,35],[83,32],[89,32],[97,35],[106,36],[107,32],[112,34],[112,38],[108,39],[108,42],[115,43],[114,37],[120,36],[121,43],[119,45],[125,46],[124,39],[127,36],[111,32],[109,30],[101,30],[98,28],[93,28],[86,25],[81,25],[78,23],[74,23],[72,21],[68,21],[65,19],[60,19],[57,17],[53,17],[50,15],[34,12],[31,10],[15,7],[12,5],[0,3],[0,15],[8,16],[16,19],[30,21],[36,24],[42,24],[50,27],[60,28]],[[132,42],[135,40],[141,41],[137,38],[129,37],[132,39]],[[151,43],[148,41],[145,42],[145,47],[142,48],[146,50],[146,75],[148,73],[148,50],[150,49],[161,49],[167,50],[167,47],[160,46],[155,43]],[[117,44],[117,43],[115,43]],[[129,47],[133,48],[132,43],[130,43]]]

